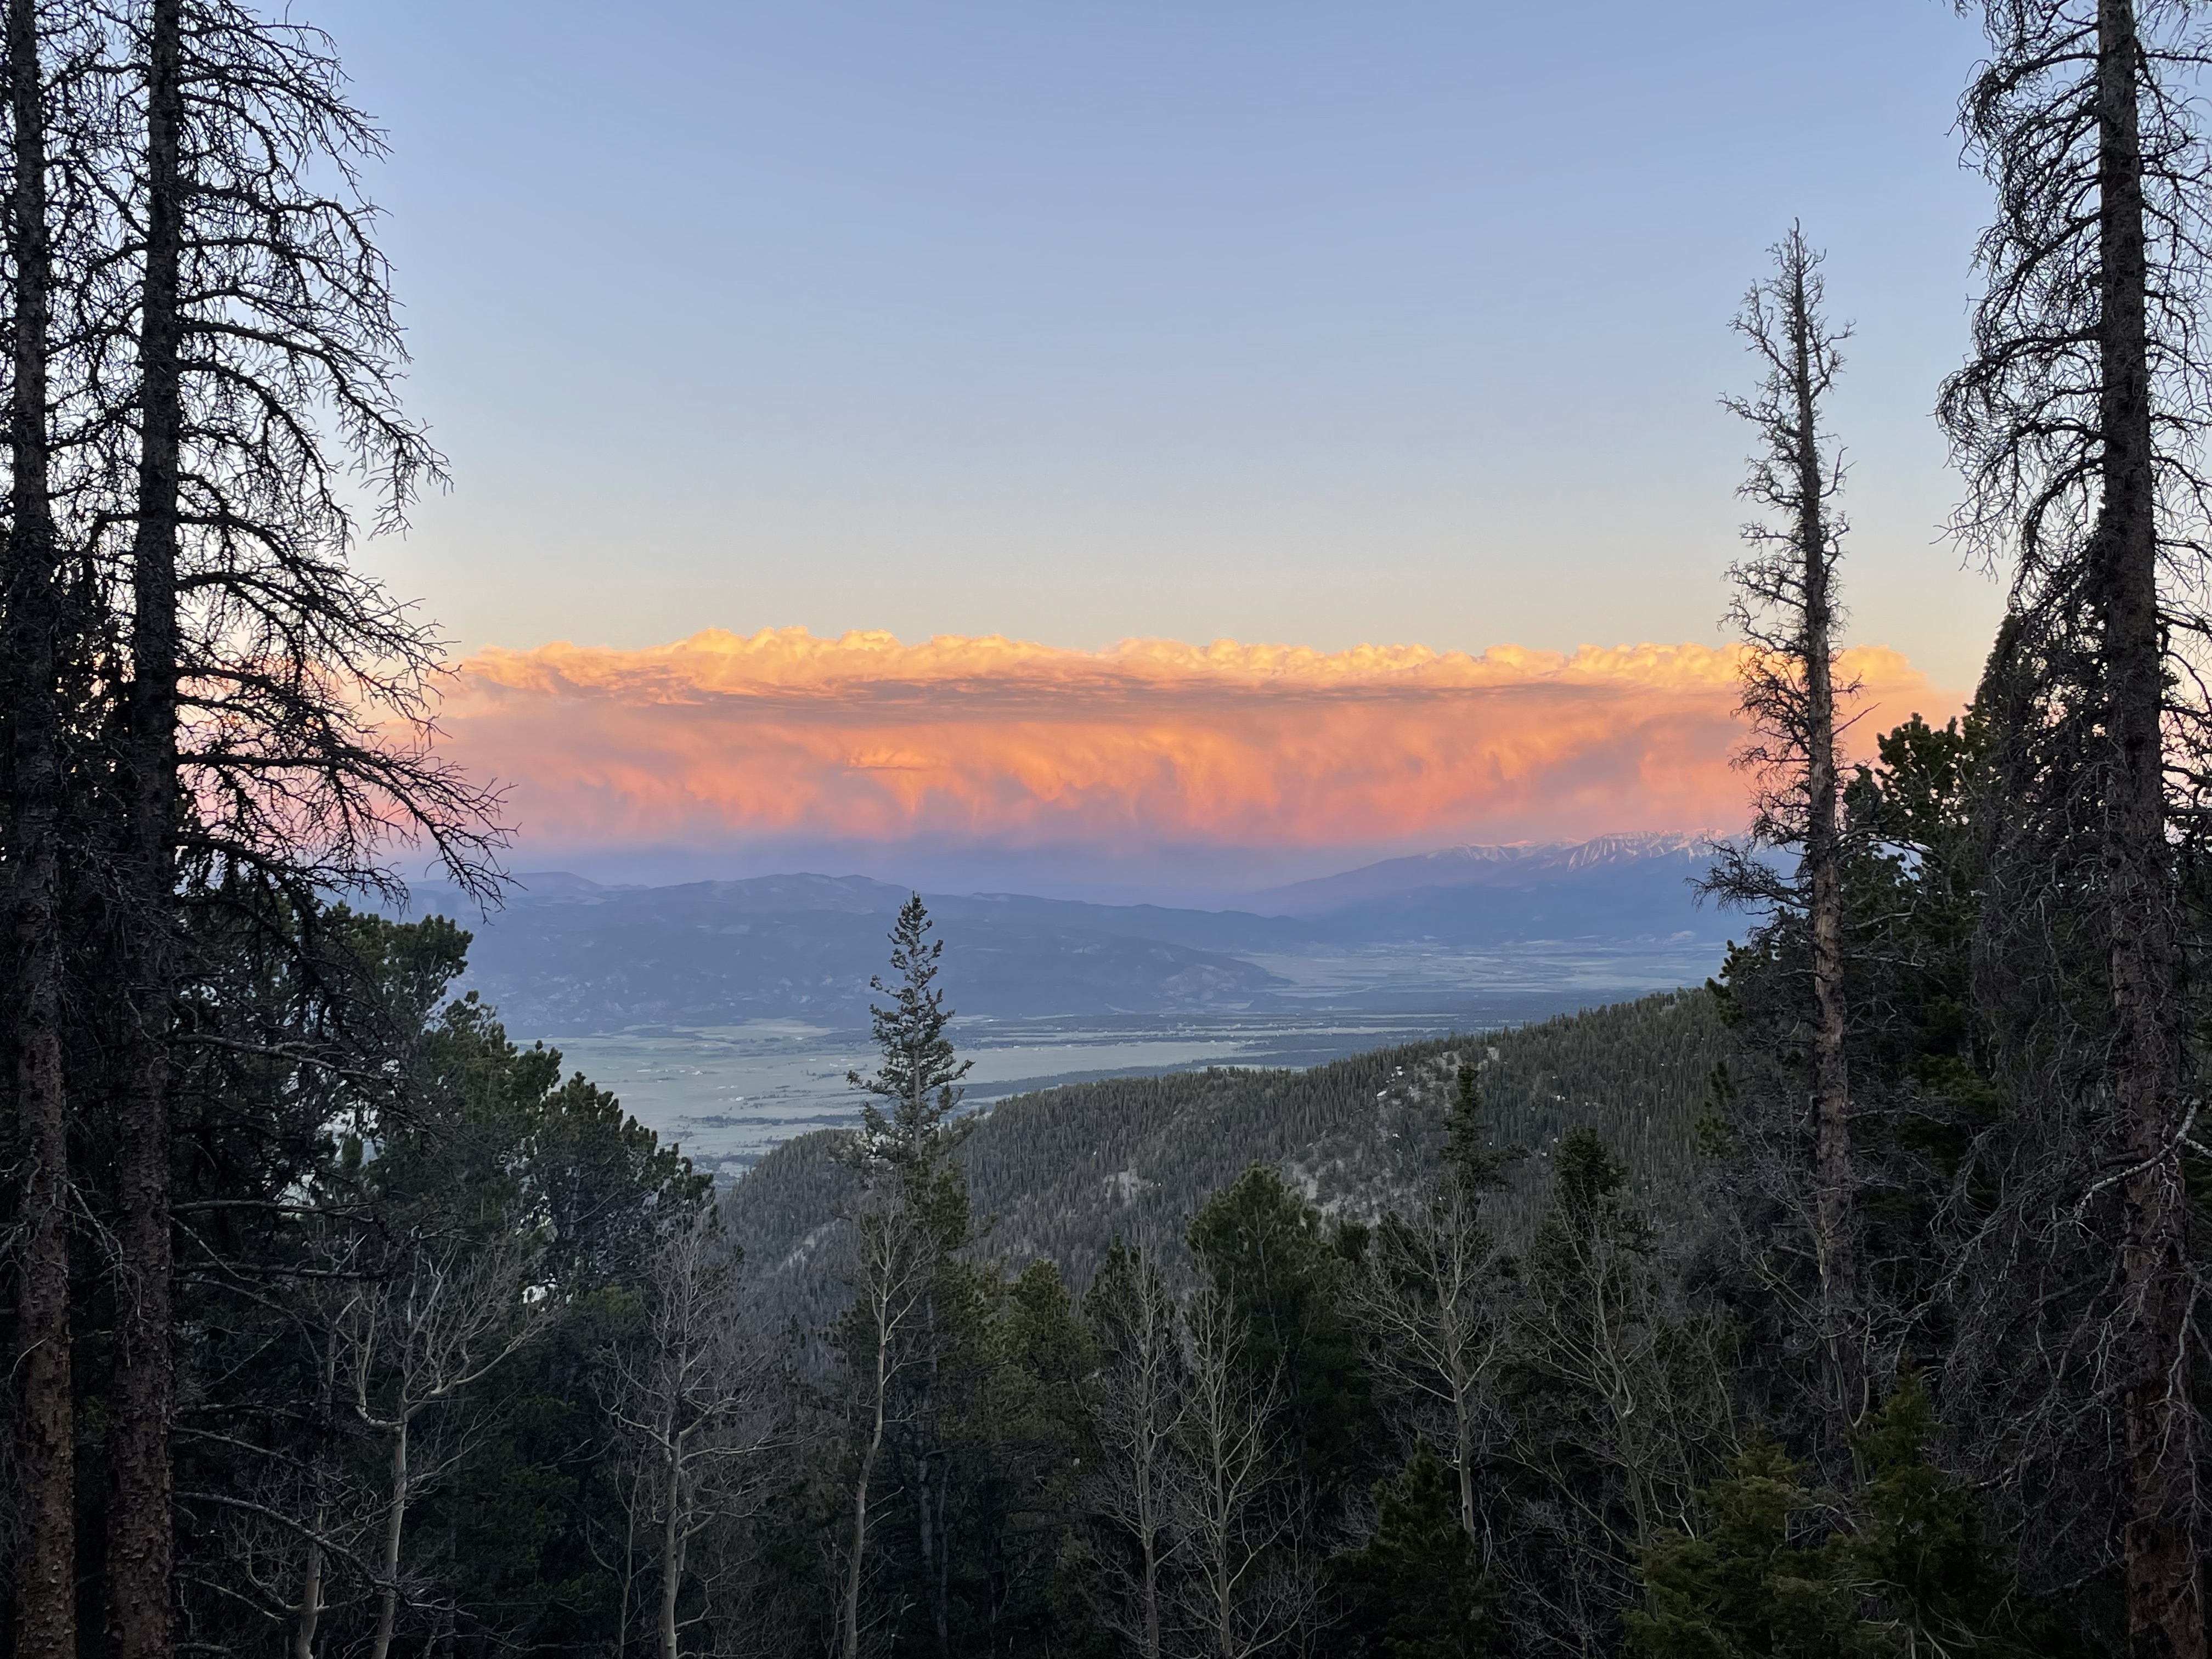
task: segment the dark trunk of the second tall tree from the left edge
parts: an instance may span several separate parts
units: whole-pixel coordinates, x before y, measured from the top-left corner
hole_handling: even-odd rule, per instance
[[[177,440],[181,0],[155,0],[146,64],[146,285],[131,703],[124,741],[122,929],[131,1013],[117,1121],[122,1422],[108,1599],[119,1659],[170,1650],[170,925],[177,814]]]

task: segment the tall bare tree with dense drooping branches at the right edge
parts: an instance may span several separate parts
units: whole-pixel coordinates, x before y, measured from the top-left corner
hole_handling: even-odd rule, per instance
[[[2020,1110],[1971,1170],[2008,1186],[1962,1210],[1947,1398],[2002,1402],[1984,1455],[2022,1480],[2110,1482],[2135,1652],[2201,1659],[2203,1219],[2183,1168],[2197,1064],[2179,874],[2208,776],[2212,173],[2194,88],[2212,55],[2185,0],[1984,11],[1991,62],[1964,128],[1997,217],[1942,418],[1969,484],[1958,531],[2013,568],[1989,684],[2004,812],[1980,987]],[[2013,1358],[2024,1343],[2039,1380]],[[2084,1531],[2075,1548],[2095,1559],[2104,1528]],[[2031,1557],[2051,1546],[2031,1540]]]

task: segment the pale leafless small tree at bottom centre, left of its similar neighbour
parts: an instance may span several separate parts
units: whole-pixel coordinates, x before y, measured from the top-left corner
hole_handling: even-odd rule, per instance
[[[1161,1659],[1161,1610],[1179,1551],[1175,1455],[1183,1436],[1183,1343],[1175,1292],[1128,1245],[1115,1245],[1084,1298],[1104,1365],[1084,1405],[1104,1455],[1086,1482],[1091,1513],[1133,1553],[1104,1606],[1104,1621],[1139,1659]]]

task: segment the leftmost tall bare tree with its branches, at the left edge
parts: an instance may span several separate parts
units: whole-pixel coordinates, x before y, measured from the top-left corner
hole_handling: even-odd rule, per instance
[[[13,1106],[13,1562],[18,1644],[75,1650],[75,1411],[69,1256],[82,1110],[64,1053],[64,883],[84,812],[97,692],[80,507],[86,462],[88,197],[104,144],[97,29],[75,4],[11,0],[7,53],[7,535],[0,542],[0,721],[7,801],[7,1088]]]

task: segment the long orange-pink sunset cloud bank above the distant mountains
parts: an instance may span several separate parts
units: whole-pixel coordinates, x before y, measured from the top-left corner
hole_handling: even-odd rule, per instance
[[[1936,712],[1898,653],[1847,668],[1882,730]],[[1736,655],[1708,646],[1318,653],[1130,639],[708,630],[462,664],[458,759],[533,841],[989,838],[1411,845],[1743,818]]]

